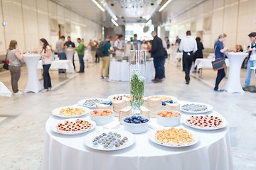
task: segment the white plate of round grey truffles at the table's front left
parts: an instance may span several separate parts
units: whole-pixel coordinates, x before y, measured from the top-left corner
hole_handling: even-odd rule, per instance
[[[86,135],[84,143],[87,147],[102,151],[114,151],[130,147],[135,137],[124,130],[104,130]]]

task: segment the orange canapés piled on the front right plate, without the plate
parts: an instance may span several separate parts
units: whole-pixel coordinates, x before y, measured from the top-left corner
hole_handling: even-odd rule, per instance
[[[195,141],[190,132],[183,128],[174,127],[170,129],[157,130],[154,137],[157,142],[167,146],[184,146]]]

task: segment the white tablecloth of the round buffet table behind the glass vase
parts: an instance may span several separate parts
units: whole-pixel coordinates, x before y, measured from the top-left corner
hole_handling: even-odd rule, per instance
[[[153,61],[146,62],[146,81],[151,81],[155,77]],[[122,60],[118,62],[115,59],[110,61],[110,80],[129,81],[129,62]]]

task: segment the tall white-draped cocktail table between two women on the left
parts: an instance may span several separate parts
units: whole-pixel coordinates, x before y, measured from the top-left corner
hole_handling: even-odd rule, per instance
[[[39,79],[38,79],[38,61],[41,58],[41,55],[23,55],[23,60],[26,63],[26,67],[28,69],[28,82],[26,85],[26,89],[24,93],[32,91],[34,93],[38,93],[43,90]]]

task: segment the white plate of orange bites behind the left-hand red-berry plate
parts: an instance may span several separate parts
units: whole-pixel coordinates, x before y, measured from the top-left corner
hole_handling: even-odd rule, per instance
[[[60,108],[55,108],[52,114],[60,118],[78,118],[90,112],[89,108],[76,107],[76,106],[64,106]]]

